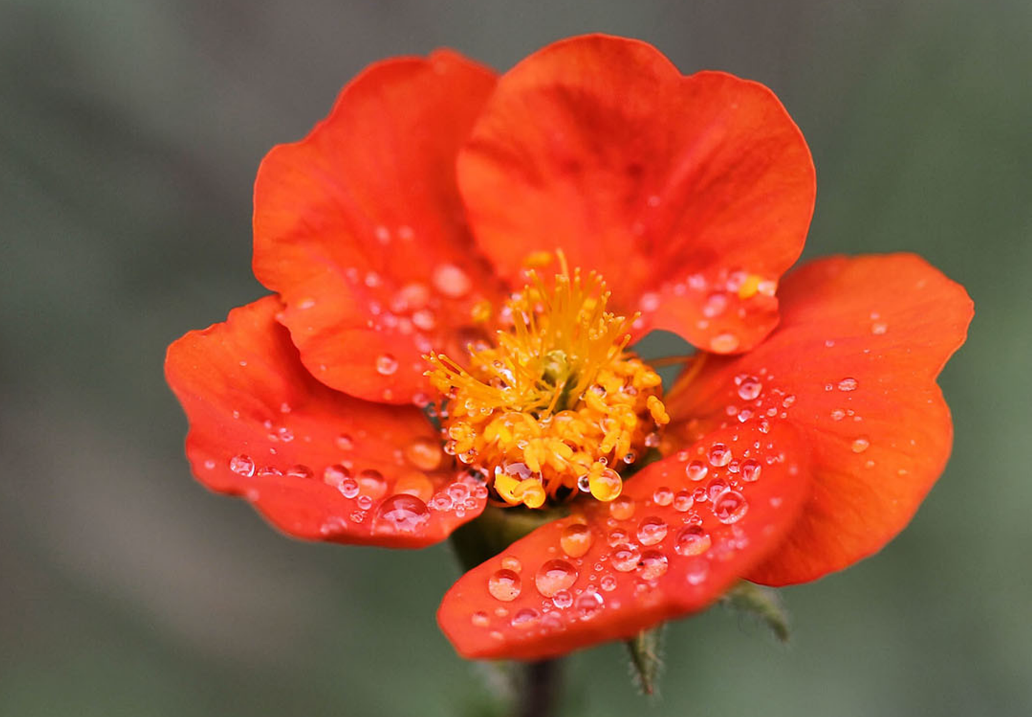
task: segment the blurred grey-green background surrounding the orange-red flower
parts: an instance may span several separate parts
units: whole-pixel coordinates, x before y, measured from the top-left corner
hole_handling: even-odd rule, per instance
[[[0,714],[478,714],[433,621],[448,551],[300,544],[209,495],[161,366],[264,293],[258,162],[365,64],[590,30],[773,88],[817,165],[807,255],[920,252],[977,317],[949,468],[879,556],[784,591],[791,646],[715,610],[670,630],[660,702],[609,645],[566,714],[1032,713],[1028,0],[0,0]]]

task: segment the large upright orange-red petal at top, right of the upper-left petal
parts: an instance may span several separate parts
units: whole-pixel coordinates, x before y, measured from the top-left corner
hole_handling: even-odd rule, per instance
[[[766,87],[682,75],[649,44],[576,37],[497,85],[458,180],[478,242],[510,279],[562,249],[599,269],[640,331],[734,353],[777,323],[773,288],[813,213],[809,150]]]

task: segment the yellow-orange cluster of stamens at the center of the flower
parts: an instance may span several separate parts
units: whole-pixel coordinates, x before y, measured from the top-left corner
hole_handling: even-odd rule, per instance
[[[613,500],[623,486],[614,467],[656,445],[670,421],[659,376],[626,350],[634,317],[606,311],[599,274],[571,276],[559,261],[551,288],[528,271],[501,312],[494,346],[471,345],[469,369],[427,357],[445,397],[445,450],[482,469],[510,506],[579,492]]]

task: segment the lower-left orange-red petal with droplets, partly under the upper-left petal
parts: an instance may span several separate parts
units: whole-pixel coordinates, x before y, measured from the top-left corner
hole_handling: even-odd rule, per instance
[[[316,541],[420,548],[479,515],[486,490],[455,471],[422,414],[313,379],[280,309],[276,297],[260,299],[168,348],[165,376],[190,421],[197,480]]]

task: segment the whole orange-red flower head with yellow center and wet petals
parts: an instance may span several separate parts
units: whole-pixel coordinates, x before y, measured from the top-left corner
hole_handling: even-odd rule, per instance
[[[840,569],[945,464],[935,379],[972,304],[911,255],[782,281],[813,201],[769,90],[642,42],[573,38],[497,78],[449,52],[374,65],[259,169],[254,270],[276,295],[169,348],[194,474],[337,543],[426,546],[489,499],[556,507],[445,596],[467,657],[555,655],[743,578]],[[523,270],[553,258],[572,268]],[[655,328],[700,349],[666,395],[624,348]]]

